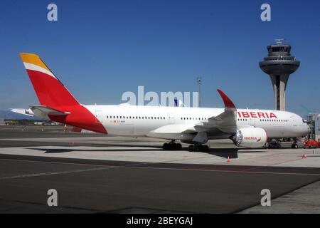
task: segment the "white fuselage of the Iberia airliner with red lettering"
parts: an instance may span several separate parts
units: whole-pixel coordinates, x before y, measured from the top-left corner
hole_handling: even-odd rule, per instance
[[[130,137],[152,136],[150,133],[166,125],[196,125],[208,122],[223,113],[223,108],[186,108],[135,105],[85,105],[102,125],[108,135]],[[237,110],[237,128],[263,128],[268,138],[296,138],[307,135],[308,125],[294,113],[279,110]],[[228,138],[230,135],[208,135],[208,139]],[[178,139],[166,135],[166,139]]]

